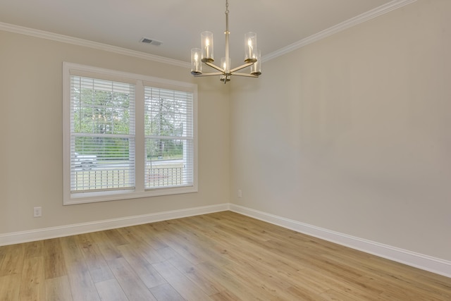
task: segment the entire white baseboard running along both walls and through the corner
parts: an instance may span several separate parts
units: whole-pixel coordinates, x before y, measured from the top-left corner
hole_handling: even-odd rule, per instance
[[[0,246],[14,245],[16,243],[30,242],[35,240],[45,240],[49,238],[61,238],[69,235],[135,226],[144,223],[154,223],[156,221],[168,221],[171,219],[180,219],[187,216],[196,216],[200,214],[209,214],[227,210],[451,278],[451,262],[448,262],[446,260],[430,257],[408,250],[402,250],[397,247],[391,247],[390,245],[383,245],[371,240],[356,238],[351,235],[311,226],[307,223],[301,223],[299,221],[294,221],[291,219],[285,219],[280,216],[268,214],[266,212],[250,209],[247,207],[242,207],[236,204],[217,204],[212,206],[163,211],[154,214],[128,216],[120,219],[108,219],[104,221],[94,221],[91,223],[77,223],[68,226],[0,234]]]

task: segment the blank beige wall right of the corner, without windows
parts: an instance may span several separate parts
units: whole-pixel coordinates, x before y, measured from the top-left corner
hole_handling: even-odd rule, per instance
[[[451,260],[450,16],[419,0],[235,80],[231,202]]]

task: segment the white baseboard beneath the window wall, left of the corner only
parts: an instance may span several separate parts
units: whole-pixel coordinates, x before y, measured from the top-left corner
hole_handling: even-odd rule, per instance
[[[14,233],[0,234],[1,245],[14,245],[16,243],[45,240],[49,238],[61,238],[69,235],[103,231],[114,228],[141,225],[144,223],[154,223],[156,221],[168,221],[170,219],[180,219],[187,216],[209,214],[213,212],[226,211],[229,204],[218,204],[204,207],[194,207],[173,211],[163,211],[154,214],[142,214],[138,216],[128,216],[119,219],[107,219],[104,221],[94,221],[91,223],[76,223],[67,226],[51,228],[41,228],[31,231],[21,231]]]

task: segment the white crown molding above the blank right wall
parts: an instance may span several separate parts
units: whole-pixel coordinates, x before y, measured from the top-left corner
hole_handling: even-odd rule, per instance
[[[308,44],[312,44],[314,42],[319,41],[320,39],[324,39],[330,35],[334,35],[337,32],[341,32],[342,30],[346,30],[352,26],[358,25],[360,23],[364,23],[368,20],[381,16],[390,11],[394,11],[397,8],[402,6],[406,6],[407,4],[411,4],[416,0],[393,0],[388,2],[388,4],[384,4],[377,8],[372,9],[371,11],[367,11],[366,13],[362,13],[359,16],[355,16],[354,18],[350,18],[349,20],[345,20],[342,23],[334,25],[332,27],[327,28],[326,30],[322,30],[314,35],[306,37],[305,39],[301,39],[298,42],[288,45],[287,47],[283,47],[276,51],[271,52],[270,54],[266,54],[261,59],[262,61],[269,61],[271,59],[276,59],[278,56],[283,56],[284,54],[288,54],[291,51],[295,51],[296,49],[307,46]]]

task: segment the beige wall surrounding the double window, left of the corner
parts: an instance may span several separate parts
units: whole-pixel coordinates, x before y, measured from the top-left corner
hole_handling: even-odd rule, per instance
[[[0,44],[0,234],[228,202],[227,87],[212,90],[189,68],[12,32],[0,31]],[[63,61],[199,83],[199,192],[63,206]]]

